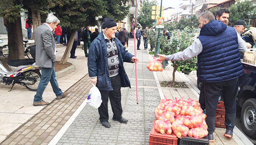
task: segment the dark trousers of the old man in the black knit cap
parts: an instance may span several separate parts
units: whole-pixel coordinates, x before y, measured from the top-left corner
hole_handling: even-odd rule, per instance
[[[108,98],[110,100],[114,119],[122,118],[121,105],[121,78],[119,75],[110,78],[113,87],[112,91],[99,90],[102,96],[102,104],[98,108],[99,120],[101,122],[108,121]]]

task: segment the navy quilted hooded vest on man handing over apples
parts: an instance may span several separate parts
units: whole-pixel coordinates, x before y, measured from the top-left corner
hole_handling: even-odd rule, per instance
[[[233,27],[211,20],[202,27],[198,38],[203,46],[198,55],[200,82],[228,81],[243,75],[237,32]]]

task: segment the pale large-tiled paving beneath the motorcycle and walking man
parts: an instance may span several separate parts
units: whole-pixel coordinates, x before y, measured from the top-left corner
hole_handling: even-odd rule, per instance
[[[57,47],[56,49],[58,51],[56,60],[59,61],[66,46]],[[68,62],[72,63],[76,70],[62,78],[57,78],[59,87],[63,92],[88,73],[84,50],[76,49],[76,56],[78,56],[77,59],[68,58]],[[9,92],[11,87],[12,85],[0,84],[0,142],[44,108],[44,106],[35,107],[32,105],[36,92],[29,91],[26,87],[18,84],[15,84],[12,91]],[[43,99],[51,102],[55,98],[56,96],[49,83],[44,91]]]

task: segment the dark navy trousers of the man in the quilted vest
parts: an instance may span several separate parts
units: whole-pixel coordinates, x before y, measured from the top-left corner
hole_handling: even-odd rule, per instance
[[[215,111],[217,109],[218,98],[223,94],[225,106],[225,125],[226,129],[233,131],[236,119],[236,92],[238,89],[238,78],[229,81],[216,83],[204,83],[205,93],[205,113],[208,132],[212,134],[215,130]]]

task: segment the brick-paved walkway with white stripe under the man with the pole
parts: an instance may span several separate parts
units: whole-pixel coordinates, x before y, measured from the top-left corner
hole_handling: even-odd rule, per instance
[[[134,54],[133,41],[129,42],[128,51]],[[148,71],[146,68],[149,61],[148,52],[143,50],[143,43],[140,48],[141,50],[137,51],[137,57],[140,59],[137,64],[139,104],[136,103],[135,64],[124,64],[131,81],[131,88],[126,87],[121,90],[122,116],[129,120],[127,124],[112,120],[110,102],[108,112],[111,128],[105,128],[99,123],[96,108],[90,105],[83,106],[92,87],[89,76],[85,75],[67,90],[67,97],[54,100],[1,143],[3,145],[47,145],[48,143],[50,145],[148,145],[149,132],[155,119],[154,109],[160,102],[160,96],[164,94],[171,99],[198,98],[195,90],[191,88],[160,87],[159,80],[171,79],[169,74],[172,74],[170,73],[172,67],[168,66],[163,72]],[[84,65],[86,64],[84,62]],[[182,77],[178,75],[176,79],[182,81]],[[69,80],[68,78],[67,81]],[[81,112],[74,116],[80,108]],[[236,143],[233,139],[225,139],[223,131],[221,128],[216,129],[214,134],[216,140],[211,145],[243,145],[241,140]]]

